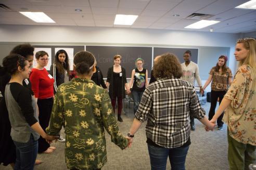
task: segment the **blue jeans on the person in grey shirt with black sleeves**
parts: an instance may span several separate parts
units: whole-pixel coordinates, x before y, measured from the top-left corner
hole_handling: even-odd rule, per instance
[[[33,170],[38,150],[38,141],[35,141],[33,135],[31,135],[27,143],[14,141],[14,144],[16,146],[16,162],[14,169]]]

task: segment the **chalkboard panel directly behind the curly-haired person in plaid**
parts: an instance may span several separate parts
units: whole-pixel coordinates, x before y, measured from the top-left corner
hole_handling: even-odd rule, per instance
[[[177,56],[178,60],[180,60],[181,63],[184,62],[183,54],[185,51],[190,50],[191,51],[191,61],[198,63],[198,49],[195,48],[167,48],[167,47],[153,47],[153,56],[154,58],[157,55],[161,55],[167,52],[173,53]]]

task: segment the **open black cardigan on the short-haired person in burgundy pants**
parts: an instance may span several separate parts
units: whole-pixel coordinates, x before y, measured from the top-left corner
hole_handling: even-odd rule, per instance
[[[122,81],[121,81],[121,84],[119,84],[119,86],[122,88],[122,98],[125,98],[124,84],[127,83],[127,80],[126,80],[126,72],[124,67],[121,67],[121,72],[122,72]],[[113,86],[114,84],[113,66],[108,69],[107,82],[109,82],[109,97],[113,99],[114,98],[113,91],[116,90],[114,89],[114,86]]]

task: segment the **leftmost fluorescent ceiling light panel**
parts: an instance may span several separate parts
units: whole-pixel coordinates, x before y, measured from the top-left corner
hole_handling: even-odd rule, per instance
[[[20,13],[35,22],[55,23],[55,21],[52,20],[50,17],[48,17],[44,12],[20,12]]]

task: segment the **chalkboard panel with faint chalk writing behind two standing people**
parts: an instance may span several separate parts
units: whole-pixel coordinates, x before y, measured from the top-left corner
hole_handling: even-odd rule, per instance
[[[152,47],[86,46],[86,51],[94,54],[104,78],[107,77],[108,68],[113,66],[113,56],[116,54],[122,56],[120,65],[125,68],[127,78],[131,78],[137,58],[145,61],[143,67],[148,70],[148,77],[150,77]]]

